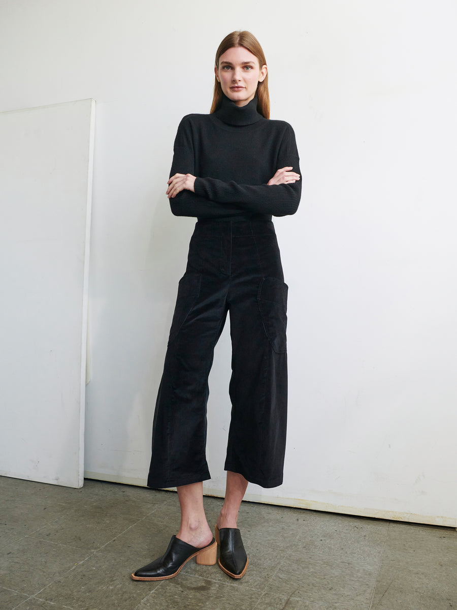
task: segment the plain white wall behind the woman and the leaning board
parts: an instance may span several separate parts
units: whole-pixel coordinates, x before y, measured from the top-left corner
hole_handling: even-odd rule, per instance
[[[448,0],[0,2],[0,110],[97,100],[86,470],[144,484],[193,221],[165,197],[180,118],[207,112],[214,52],[246,28],[272,118],[294,126],[285,483],[250,498],[457,525],[456,5]],[[222,489],[227,333],[211,373]]]

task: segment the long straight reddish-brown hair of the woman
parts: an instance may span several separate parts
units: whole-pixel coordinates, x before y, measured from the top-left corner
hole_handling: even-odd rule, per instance
[[[263,54],[263,50],[260,46],[257,38],[247,32],[246,30],[239,30],[237,32],[230,32],[227,36],[222,40],[221,44],[216,51],[216,68],[219,68],[219,59],[221,59],[221,55],[224,55],[225,51],[228,49],[232,49],[234,46],[243,46],[249,52],[251,52],[255,57],[257,57],[257,61],[259,63],[260,68],[266,65],[266,59]],[[216,76],[214,76],[214,95],[213,95],[213,104],[211,104],[211,112],[216,112],[219,106],[221,106],[222,102],[222,87],[221,83],[218,81]],[[268,93],[268,73],[266,77],[257,85],[257,112],[259,112],[263,117],[270,118],[270,96]]]

